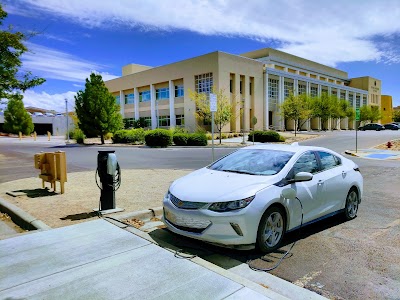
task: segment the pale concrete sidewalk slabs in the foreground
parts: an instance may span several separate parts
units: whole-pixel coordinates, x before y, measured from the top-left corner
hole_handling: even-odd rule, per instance
[[[289,299],[117,225],[99,219],[0,241],[0,298]]]

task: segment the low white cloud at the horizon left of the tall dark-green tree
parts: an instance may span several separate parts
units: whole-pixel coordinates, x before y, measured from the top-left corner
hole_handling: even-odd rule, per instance
[[[24,93],[24,105],[39,107],[57,112],[65,112],[65,99],[68,100],[68,111],[75,110],[76,92],[65,92],[62,94],[48,94],[46,92],[37,93],[35,91],[26,91]]]

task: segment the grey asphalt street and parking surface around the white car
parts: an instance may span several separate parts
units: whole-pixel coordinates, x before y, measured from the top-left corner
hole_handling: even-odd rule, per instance
[[[302,144],[327,147],[340,153],[354,150],[355,132],[326,132]],[[400,138],[400,132],[358,132],[358,148],[369,148]],[[210,148],[111,147],[124,168],[197,169],[211,162]],[[52,144],[5,143],[0,138],[0,182],[37,176],[33,154],[62,150],[67,153],[68,172],[95,170],[99,150],[109,147],[58,146]],[[216,157],[234,149],[217,148]],[[344,222],[340,217],[303,228],[286,236],[286,244],[297,241],[292,255],[271,273],[296,282],[332,299],[399,299],[400,295],[400,161],[354,160],[364,176],[364,197],[358,217]],[[174,238],[177,242],[181,240]],[[184,245],[201,249],[207,256],[224,256],[235,265],[255,260],[260,267],[274,264],[281,253],[260,261],[256,251],[230,251],[184,240]],[[287,247],[288,247],[287,246]],[[287,249],[287,247],[285,249]],[[201,256],[201,254],[200,254]],[[227,267],[228,268],[228,267]]]

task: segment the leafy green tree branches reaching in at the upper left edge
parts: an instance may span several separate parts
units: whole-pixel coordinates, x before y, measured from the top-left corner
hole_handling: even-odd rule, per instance
[[[28,51],[24,42],[30,36],[19,31],[14,32],[12,26],[4,28],[3,21],[6,17],[7,13],[0,4],[0,100],[11,99],[45,81],[43,78],[33,77],[31,72],[20,71],[21,55]]]

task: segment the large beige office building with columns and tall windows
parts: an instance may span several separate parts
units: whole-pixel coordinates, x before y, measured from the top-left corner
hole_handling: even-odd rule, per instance
[[[275,49],[265,48],[242,55],[212,52],[160,67],[127,65],[122,77],[109,80],[106,86],[121,106],[126,119],[144,118],[148,127],[185,126],[195,130],[195,103],[189,89],[211,93],[223,90],[234,110],[224,132],[255,129],[292,129],[279,107],[292,91],[318,96],[326,92],[345,99],[354,108],[381,103],[381,81],[371,77],[348,78],[344,71],[306,60]],[[325,126],[323,126],[325,125]],[[207,126],[205,126],[207,127]],[[329,120],[321,124],[312,119],[305,130],[354,129],[355,122]]]

